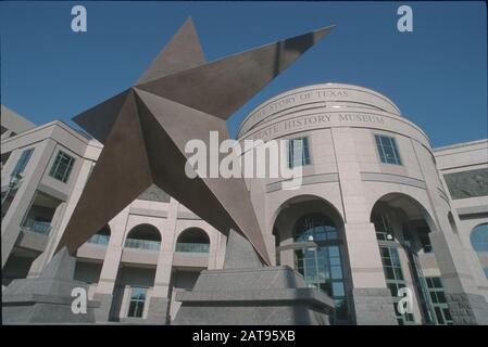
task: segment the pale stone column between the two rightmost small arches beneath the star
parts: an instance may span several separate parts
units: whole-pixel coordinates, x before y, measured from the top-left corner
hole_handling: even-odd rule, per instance
[[[155,270],[154,287],[149,299],[148,322],[152,324],[168,324],[170,316],[170,281],[173,269],[174,235],[176,229],[176,218],[178,214],[178,202],[171,198],[170,209],[162,237],[161,249],[158,257],[158,268]]]

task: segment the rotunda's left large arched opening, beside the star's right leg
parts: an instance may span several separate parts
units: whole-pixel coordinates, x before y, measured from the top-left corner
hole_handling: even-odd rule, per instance
[[[333,324],[349,324],[350,270],[343,221],[323,198],[305,195],[286,202],[274,223],[276,258],[335,301]]]

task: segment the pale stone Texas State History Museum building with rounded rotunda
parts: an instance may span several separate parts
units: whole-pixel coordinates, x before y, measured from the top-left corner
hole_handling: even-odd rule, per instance
[[[3,137],[3,116],[2,288],[51,259],[102,150],[58,120]],[[273,265],[326,292],[333,324],[488,324],[488,140],[431,149],[388,98],[342,83],[262,103],[238,130],[248,139],[300,140],[286,156],[299,189],[246,182]],[[151,187],[77,250],[75,279],[98,322],[171,323],[176,294],[222,268],[225,247]]]

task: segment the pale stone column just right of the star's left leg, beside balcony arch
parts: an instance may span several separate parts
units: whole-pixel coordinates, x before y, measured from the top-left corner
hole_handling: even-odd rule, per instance
[[[124,249],[124,235],[128,219],[129,206],[124,208],[109,226],[111,230],[110,241],[107,245],[105,258],[98,281],[97,291],[93,294],[93,300],[100,301],[100,307],[95,310],[97,322],[107,322],[110,318],[112,307],[113,292],[117,279],[118,268]]]

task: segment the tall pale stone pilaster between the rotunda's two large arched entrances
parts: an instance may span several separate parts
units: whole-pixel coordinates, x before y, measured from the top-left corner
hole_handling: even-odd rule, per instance
[[[386,286],[378,242],[361,181],[350,128],[331,129],[342,193],[347,253],[351,267],[352,305],[356,324],[397,324]]]

